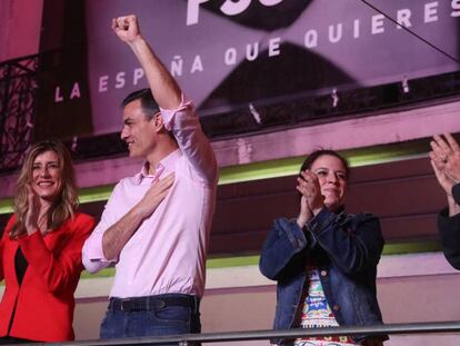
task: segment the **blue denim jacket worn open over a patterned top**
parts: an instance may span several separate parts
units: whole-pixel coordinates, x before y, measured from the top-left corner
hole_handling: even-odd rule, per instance
[[[376,277],[383,243],[379,219],[370,214],[334,214],[323,208],[303,229],[296,219],[274,220],[259,264],[266,277],[278,281],[273,328],[299,327],[296,316],[303,304],[307,263],[318,267],[326,299],[340,326],[382,324]],[[366,335],[352,338],[361,343]]]

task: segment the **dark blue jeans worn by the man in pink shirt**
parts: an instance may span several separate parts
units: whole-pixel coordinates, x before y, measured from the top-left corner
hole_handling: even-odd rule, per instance
[[[161,336],[172,334],[190,334],[200,333],[200,313],[199,300],[196,298],[194,304],[190,306],[176,305],[176,298],[190,298],[188,295],[167,294],[151,297],[133,298],[141,300],[149,299],[148,306],[144,308],[117,304],[109,304],[106,317],[101,324],[101,338],[126,338],[142,336]],[[118,299],[120,300],[120,299]],[[121,299],[130,300],[130,299]],[[119,301],[116,301],[119,303]],[[164,344],[177,345],[177,344]]]

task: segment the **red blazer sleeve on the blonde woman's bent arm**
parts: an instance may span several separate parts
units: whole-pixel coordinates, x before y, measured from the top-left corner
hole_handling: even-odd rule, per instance
[[[94,227],[92,217],[79,214],[62,227],[69,227],[69,238],[63,243],[62,249],[53,251],[44,243],[40,231],[21,237],[18,241],[29,266],[37,270],[50,293],[64,290],[69,285],[77,286],[81,265],[81,248],[84,240]],[[61,230],[56,230],[61,231]]]

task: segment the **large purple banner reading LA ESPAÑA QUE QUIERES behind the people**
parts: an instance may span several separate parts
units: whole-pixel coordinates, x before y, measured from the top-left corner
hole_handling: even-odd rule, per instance
[[[110,29],[122,14],[201,117],[458,70],[460,0],[368,2],[418,37],[360,0],[46,0],[37,137],[120,130],[147,86]]]

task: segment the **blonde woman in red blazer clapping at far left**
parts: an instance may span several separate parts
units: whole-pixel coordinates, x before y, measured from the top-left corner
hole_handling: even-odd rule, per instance
[[[32,146],[17,184],[14,215],[0,241],[0,344],[64,342],[72,320],[81,248],[92,217],[77,212],[69,151],[57,141]]]

